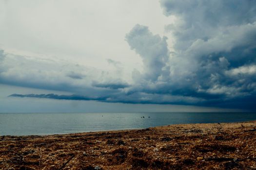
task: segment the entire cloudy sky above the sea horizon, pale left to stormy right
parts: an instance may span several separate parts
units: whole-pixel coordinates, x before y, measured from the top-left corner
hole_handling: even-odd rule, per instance
[[[0,0],[0,112],[256,111],[254,0]]]

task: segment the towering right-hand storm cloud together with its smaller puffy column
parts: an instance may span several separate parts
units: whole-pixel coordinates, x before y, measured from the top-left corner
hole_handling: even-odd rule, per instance
[[[236,2],[160,0],[163,14],[177,19],[165,27],[174,38],[173,49],[166,50],[165,37],[161,41],[145,26],[136,25],[126,35],[131,49],[149,69],[146,72],[155,73],[155,80],[158,77],[152,82],[139,76],[140,85],[131,92],[187,96],[204,99],[203,105],[238,104],[255,109],[251,99],[256,98],[256,3]],[[144,60],[156,64],[152,67]]]

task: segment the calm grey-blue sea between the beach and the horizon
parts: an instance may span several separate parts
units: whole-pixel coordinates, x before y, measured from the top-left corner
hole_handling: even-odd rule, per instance
[[[145,118],[141,118],[143,116]],[[256,113],[0,113],[0,136],[68,134],[248,120],[256,120]]]

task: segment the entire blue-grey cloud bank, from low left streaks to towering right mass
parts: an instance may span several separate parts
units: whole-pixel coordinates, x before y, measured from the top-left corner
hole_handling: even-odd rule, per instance
[[[112,59],[107,62],[116,72],[0,51],[0,83],[74,93],[12,97],[256,110],[256,2],[160,0],[160,6],[166,17],[176,18],[166,23],[165,36],[140,24],[125,35],[143,63],[142,69],[131,68],[131,82],[117,74],[121,64]]]

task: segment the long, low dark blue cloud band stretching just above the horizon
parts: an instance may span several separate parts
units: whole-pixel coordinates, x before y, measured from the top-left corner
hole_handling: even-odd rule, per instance
[[[8,97],[19,98],[43,98],[54,100],[72,100],[72,101],[98,101],[111,103],[132,103],[132,104],[177,104],[177,105],[197,105],[197,106],[214,106],[222,108],[236,108],[245,110],[255,110],[255,95],[247,97],[238,97],[233,100],[211,99],[203,100],[193,97],[170,96],[159,94],[141,94],[133,93],[132,95],[124,95],[122,93],[112,94],[102,97],[88,97],[82,95],[57,95],[57,94],[12,94]]]

